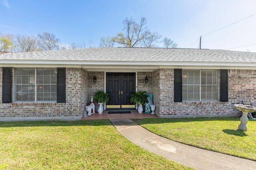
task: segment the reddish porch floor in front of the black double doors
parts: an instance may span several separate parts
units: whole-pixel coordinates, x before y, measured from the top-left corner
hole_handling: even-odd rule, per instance
[[[108,114],[108,111],[103,111],[102,114],[98,114],[97,112],[88,116],[82,117],[81,120],[95,120],[95,119],[142,119],[142,118],[150,118],[150,117],[158,117],[156,114],[152,115],[150,113],[138,113],[137,110],[131,111],[131,113],[123,113],[123,114]]]

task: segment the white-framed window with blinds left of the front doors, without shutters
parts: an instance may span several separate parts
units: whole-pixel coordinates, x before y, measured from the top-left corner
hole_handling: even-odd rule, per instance
[[[56,68],[15,68],[15,102],[56,102]]]

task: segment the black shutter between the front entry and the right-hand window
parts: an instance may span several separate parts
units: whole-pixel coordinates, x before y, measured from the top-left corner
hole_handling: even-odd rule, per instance
[[[174,69],[174,102],[182,102],[182,69]]]

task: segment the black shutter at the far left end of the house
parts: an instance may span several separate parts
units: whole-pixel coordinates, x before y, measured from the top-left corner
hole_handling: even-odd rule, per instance
[[[2,70],[2,103],[12,103],[12,68],[3,67]]]

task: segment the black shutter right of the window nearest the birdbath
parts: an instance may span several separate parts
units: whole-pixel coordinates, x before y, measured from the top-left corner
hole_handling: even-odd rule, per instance
[[[228,102],[228,70],[220,70],[220,102]]]

